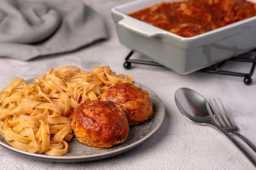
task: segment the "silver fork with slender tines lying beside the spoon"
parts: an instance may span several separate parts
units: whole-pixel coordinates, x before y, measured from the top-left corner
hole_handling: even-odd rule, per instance
[[[209,100],[209,103],[211,110],[213,111],[214,114],[213,115],[212,113],[209,113],[213,123],[217,124],[218,126],[221,126],[229,133],[233,133],[240,137],[241,139],[243,139],[256,152],[256,146],[251,141],[249,141],[249,139],[237,133],[239,128],[234,124],[234,122],[229,118],[229,116],[227,116],[227,113],[222,103],[220,102],[220,99],[218,98],[219,106],[215,99],[213,99],[213,103],[211,102],[211,100]]]

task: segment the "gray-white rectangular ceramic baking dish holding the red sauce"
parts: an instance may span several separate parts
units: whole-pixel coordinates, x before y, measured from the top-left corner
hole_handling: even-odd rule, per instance
[[[163,0],[137,0],[111,9],[121,44],[180,74],[256,48],[256,16],[186,38],[127,15],[160,2]]]

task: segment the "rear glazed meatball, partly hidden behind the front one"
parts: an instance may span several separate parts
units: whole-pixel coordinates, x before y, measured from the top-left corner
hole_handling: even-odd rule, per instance
[[[151,118],[152,100],[146,90],[131,83],[121,83],[108,87],[101,96],[103,101],[117,102],[124,108],[129,125],[135,125]]]

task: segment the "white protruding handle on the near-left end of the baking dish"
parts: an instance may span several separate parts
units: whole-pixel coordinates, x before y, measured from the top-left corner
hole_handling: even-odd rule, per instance
[[[146,22],[136,20],[132,17],[126,16],[118,22],[119,26],[122,26],[130,31],[133,31],[137,34],[143,35],[145,37],[155,37],[159,34],[164,34],[164,30],[151,26]]]

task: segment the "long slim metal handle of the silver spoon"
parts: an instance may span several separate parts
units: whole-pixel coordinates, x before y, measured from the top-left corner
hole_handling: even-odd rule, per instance
[[[228,131],[226,131],[225,129],[223,129],[222,127],[213,124],[213,123],[209,123],[211,126],[216,127],[219,131],[221,131],[222,133],[224,133],[230,140],[231,142],[233,142],[236,147],[238,147],[241,152],[253,163],[253,165],[256,167],[256,156],[248,149],[246,148],[241,142],[239,142],[233,135],[231,135]]]

